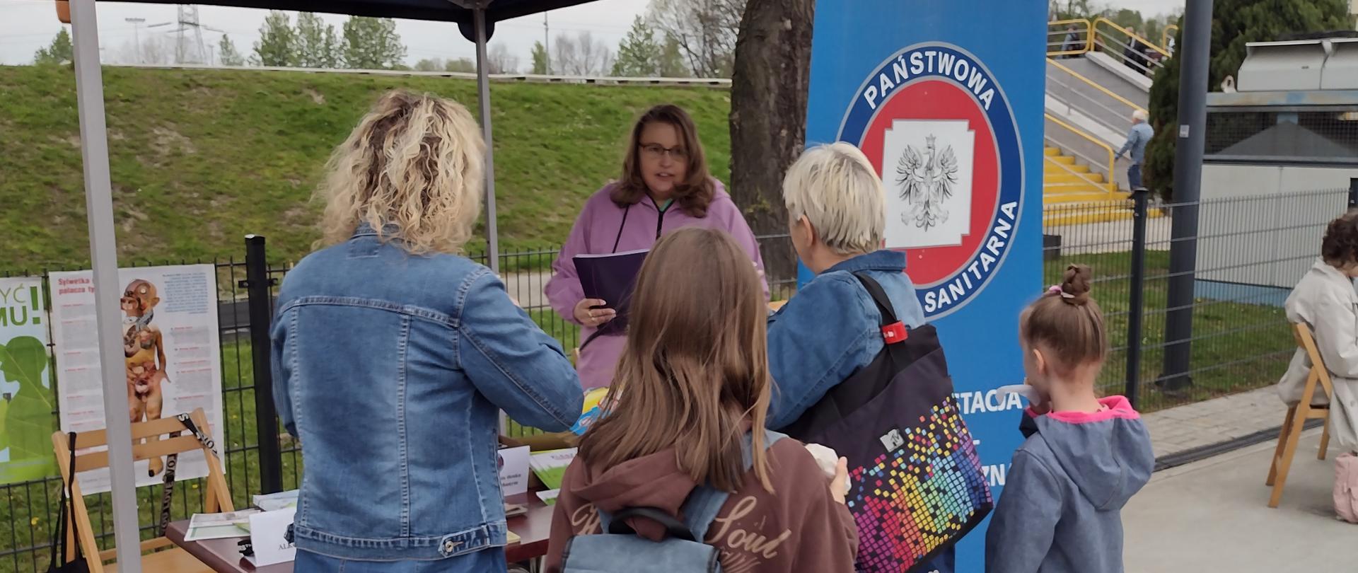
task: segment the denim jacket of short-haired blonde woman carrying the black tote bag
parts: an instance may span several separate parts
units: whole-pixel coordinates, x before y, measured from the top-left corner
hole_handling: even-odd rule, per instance
[[[775,386],[769,428],[797,421],[830,388],[881,352],[881,312],[853,276],[856,272],[868,272],[881,284],[896,318],[907,327],[925,323],[915,286],[906,276],[904,253],[868,253],[816,276],[769,318],[769,368]]]

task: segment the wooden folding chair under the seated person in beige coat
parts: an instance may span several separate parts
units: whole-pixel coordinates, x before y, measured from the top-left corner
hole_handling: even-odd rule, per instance
[[[1272,486],[1272,497],[1268,500],[1270,508],[1277,508],[1282,501],[1282,486],[1287,482],[1287,470],[1291,468],[1291,458],[1297,454],[1297,441],[1301,440],[1301,430],[1308,420],[1321,418],[1325,429],[1320,433],[1320,454],[1317,459],[1325,459],[1325,449],[1329,448],[1329,403],[1315,406],[1316,383],[1325,396],[1334,399],[1335,384],[1329,379],[1325,361],[1316,349],[1316,339],[1310,335],[1306,325],[1293,325],[1291,334],[1297,338],[1297,346],[1306,350],[1310,358],[1310,373],[1306,375],[1306,386],[1301,392],[1301,401],[1287,407],[1287,417],[1283,418],[1282,430],[1278,433],[1278,447],[1274,448],[1272,464],[1268,466],[1268,479],[1264,485]]]

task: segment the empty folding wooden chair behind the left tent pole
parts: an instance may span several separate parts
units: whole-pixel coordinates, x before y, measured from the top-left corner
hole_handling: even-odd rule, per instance
[[[189,417],[200,430],[209,436],[212,435],[212,429],[208,428],[208,415],[204,414],[202,409],[193,410]],[[178,437],[164,437],[164,435],[171,432],[181,432],[181,435]],[[145,440],[145,443],[143,443],[143,440]],[[62,481],[67,481],[71,477],[71,449],[68,443],[68,435],[62,432],[52,435],[52,445],[57,454],[57,463],[61,467]],[[76,435],[76,451],[107,444],[109,436],[105,430],[81,432]],[[221,460],[219,460],[217,456],[208,448],[202,447],[202,444],[198,443],[198,439],[194,437],[179,420],[171,417],[149,422],[132,424],[132,458],[139,462],[144,459],[163,458],[170,454],[183,454],[194,449],[202,451],[208,459],[208,487],[204,493],[206,508],[204,511],[208,513],[234,511],[231,492],[227,490],[227,477],[221,473]],[[84,550],[86,563],[88,563],[91,573],[115,573],[118,570],[118,563],[111,562],[105,565],[105,561],[110,561],[117,557],[114,550],[110,549],[102,553],[96,550],[98,544],[95,544],[94,528],[90,524],[90,511],[86,508],[84,496],[80,493],[79,474],[80,471],[109,467],[109,452],[96,451],[77,454],[75,464],[76,479],[72,483],[67,483],[71,489],[71,502],[73,509],[71,512],[69,521],[67,523],[67,538],[72,539],[75,535],[80,536],[80,549]],[[179,483],[179,486],[186,487],[187,485]],[[155,512],[155,515],[159,516],[159,512]],[[75,543],[69,543],[68,546],[72,551],[75,550]],[[141,542],[141,569],[145,572],[212,572],[212,568],[204,565],[187,551],[174,547],[170,539],[166,539],[164,536]],[[75,555],[67,555],[65,558],[69,561],[75,558]]]

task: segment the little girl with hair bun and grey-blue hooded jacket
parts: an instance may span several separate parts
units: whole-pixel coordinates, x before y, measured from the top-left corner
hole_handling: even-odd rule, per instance
[[[1123,570],[1122,506],[1154,454],[1131,403],[1095,392],[1108,329],[1089,286],[1089,267],[1071,265],[1019,318],[1036,399],[986,534],[987,573]]]

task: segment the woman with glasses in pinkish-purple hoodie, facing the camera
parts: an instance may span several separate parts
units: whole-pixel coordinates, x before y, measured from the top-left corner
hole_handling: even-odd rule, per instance
[[[581,326],[576,369],[585,390],[612,382],[623,337],[596,334],[617,316],[611,308],[617,301],[587,299],[572,258],[650,248],[661,235],[680,227],[731,234],[763,272],[755,235],[721,182],[708,172],[693,118],[678,106],[661,105],[646,110],[631,128],[622,179],[585,201],[545,289],[551,308]]]

